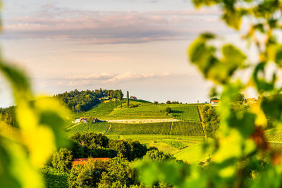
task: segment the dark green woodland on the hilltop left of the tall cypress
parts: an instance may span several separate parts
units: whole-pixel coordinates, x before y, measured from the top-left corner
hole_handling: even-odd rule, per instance
[[[88,111],[93,106],[99,104],[100,101],[98,98],[108,97],[110,99],[122,99],[123,92],[121,92],[121,90],[106,89],[96,89],[94,91],[86,90],[79,92],[77,89],[75,89],[71,92],[57,94],[54,97],[63,101],[63,104],[71,111],[80,113],[82,111]]]

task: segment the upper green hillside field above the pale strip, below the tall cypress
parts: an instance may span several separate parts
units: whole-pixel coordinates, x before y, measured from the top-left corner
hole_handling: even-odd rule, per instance
[[[200,115],[196,104],[158,104],[154,105],[148,101],[130,101],[130,108],[126,107],[123,101],[117,101],[115,108],[114,101],[102,102],[94,106],[90,111],[73,113],[72,119],[80,117],[100,118],[106,120],[130,120],[130,119],[166,119],[176,118],[179,120],[200,121]],[[170,107],[172,113],[166,113],[165,109]]]

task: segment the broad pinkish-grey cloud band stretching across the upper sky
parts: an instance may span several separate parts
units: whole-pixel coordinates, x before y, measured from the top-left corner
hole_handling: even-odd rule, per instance
[[[120,44],[190,39],[199,32],[228,32],[219,11],[78,11],[45,4],[35,15],[4,20],[1,39],[72,39]]]

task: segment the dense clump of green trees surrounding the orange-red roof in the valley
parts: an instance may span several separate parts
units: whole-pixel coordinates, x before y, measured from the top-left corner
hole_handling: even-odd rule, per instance
[[[41,170],[47,187],[145,187],[137,178],[132,162],[141,158],[153,161],[176,158],[155,147],[137,141],[109,139],[103,134],[84,132],[70,137],[71,146],[53,154]],[[109,161],[88,161],[72,165],[73,158],[104,158]],[[178,161],[182,163],[182,161]],[[172,187],[164,182],[155,182],[155,187]]]

